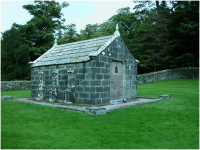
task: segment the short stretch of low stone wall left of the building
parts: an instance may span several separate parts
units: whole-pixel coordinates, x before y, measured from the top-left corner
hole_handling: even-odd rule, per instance
[[[31,81],[1,81],[1,91],[30,90]]]

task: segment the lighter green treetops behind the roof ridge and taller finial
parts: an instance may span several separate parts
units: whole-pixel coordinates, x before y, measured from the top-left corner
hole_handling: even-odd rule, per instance
[[[79,40],[87,40],[91,38],[103,37],[113,35],[116,24],[119,24],[120,36],[125,42],[126,46],[131,50],[133,30],[138,26],[139,20],[130,12],[130,7],[121,8],[117,14],[109,18],[101,24],[87,24],[84,30],[79,34]]]

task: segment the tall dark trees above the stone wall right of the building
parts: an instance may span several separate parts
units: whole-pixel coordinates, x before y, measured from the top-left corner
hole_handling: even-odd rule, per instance
[[[140,73],[198,67],[198,4],[197,1],[171,1],[171,5],[165,1],[143,1],[134,8],[142,20],[133,36],[133,54],[140,60]]]

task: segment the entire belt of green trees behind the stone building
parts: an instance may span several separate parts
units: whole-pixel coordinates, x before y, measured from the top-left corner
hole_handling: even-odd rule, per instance
[[[13,23],[2,34],[2,80],[30,79],[28,62],[51,48],[55,38],[59,45],[113,35],[117,23],[124,43],[140,61],[139,74],[198,67],[199,1],[134,2],[134,8],[120,8],[107,21],[87,24],[80,33],[76,24],[64,25],[61,10],[69,6],[67,2],[24,5],[32,19],[25,25]]]

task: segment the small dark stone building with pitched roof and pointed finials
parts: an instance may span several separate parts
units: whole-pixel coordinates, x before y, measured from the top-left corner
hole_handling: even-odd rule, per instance
[[[137,99],[137,65],[118,31],[57,45],[31,64],[31,97],[89,106]]]

